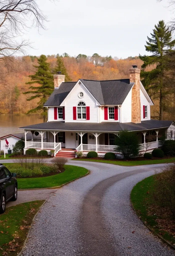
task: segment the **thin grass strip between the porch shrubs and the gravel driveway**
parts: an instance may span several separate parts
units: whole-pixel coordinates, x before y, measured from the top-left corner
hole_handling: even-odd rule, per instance
[[[112,160],[96,160],[96,159],[72,159],[75,161],[90,161],[90,162],[99,162],[107,164],[116,164],[122,166],[134,166],[134,165],[144,165],[144,164],[165,164],[165,163],[174,163],[175,157],[168,159],[158,159],[158,160],[142,160],[142,161],[112,161]]]

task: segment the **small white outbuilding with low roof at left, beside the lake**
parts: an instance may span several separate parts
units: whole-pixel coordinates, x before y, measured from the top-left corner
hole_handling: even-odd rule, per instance
[[[1,137],[0,138],[0,150],[4,150],[5,138],[7,138],[7,141],[9,143],[8,145],[5,145],[5,153],[8,153],[8,149],[11,149],[12,153],[13,153],[13,145],[15,145],[16,142],[19,141],[20,139],[25,140],[25,134],[24,134],[24,132],[22,132],[22,133],[8,134],[6,136]],[[27,133],[26,140],[27,141],[32,140],[32,133]],[[38,136],[33,134],[33,141],[40,141],[40,140],[41,140],[40,134],[38,134]]]

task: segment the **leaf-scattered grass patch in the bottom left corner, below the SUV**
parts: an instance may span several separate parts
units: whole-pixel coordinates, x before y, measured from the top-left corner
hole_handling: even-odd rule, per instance
[[[0,215],[0,256],[14,256],[21,251],[32,219],[43,202],[33,201],[12,206]]]

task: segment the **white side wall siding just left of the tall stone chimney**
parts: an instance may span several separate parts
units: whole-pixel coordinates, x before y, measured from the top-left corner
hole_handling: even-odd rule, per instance
[[[126,96],[121,106],[121,123],[131,122],[131,100],[132,100],[132,89]]]

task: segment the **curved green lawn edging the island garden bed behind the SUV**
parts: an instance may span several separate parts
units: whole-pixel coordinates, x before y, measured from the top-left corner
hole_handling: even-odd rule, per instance
[[[9,168],[15,164],[5,163],[4,165]],[[52,176],[40,178],[17,178],[18,189],[57,187],[88,173],[88,170],[84,167],[73,165],[65,165],[64,167],[65,171],[63,173],[55,174]]]

